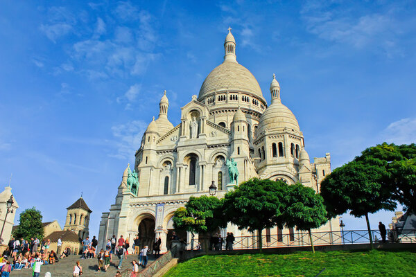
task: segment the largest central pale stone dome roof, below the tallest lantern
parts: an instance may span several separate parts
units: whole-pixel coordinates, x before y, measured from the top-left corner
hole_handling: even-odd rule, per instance
[[[205,98],[214,91],[248,92],[263,99],[259,82],[252,73],[241,64],[232,61],[223,62],[208,74],[202,83],[198,98]]]

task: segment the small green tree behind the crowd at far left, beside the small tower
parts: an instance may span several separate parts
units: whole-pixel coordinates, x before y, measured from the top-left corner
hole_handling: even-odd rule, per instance
[[[42,215],[40,211],[37,211],[35,207],[27,208],[20,214],[19,226],[13,233],[15,238],[24,240],[31,240],[31,238],[39,238],[42,240],[44,237],[44,229],[42,226]]]

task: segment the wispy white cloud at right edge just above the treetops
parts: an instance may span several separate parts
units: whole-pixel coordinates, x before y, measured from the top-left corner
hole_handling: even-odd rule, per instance
[[[388,143],[416,143],[416,118],[403,118],[390,123],[382,136]]]

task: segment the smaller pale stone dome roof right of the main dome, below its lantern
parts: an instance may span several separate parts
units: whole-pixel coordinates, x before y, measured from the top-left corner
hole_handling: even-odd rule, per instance
[[[281,104],[279,100],[273,101],[266,111],[260,117],[257,134],[261,134],[266,129],[271,131],[281,131],[283,129],[300,132],[299,123],[295,118],[293,112],[285,105]]]

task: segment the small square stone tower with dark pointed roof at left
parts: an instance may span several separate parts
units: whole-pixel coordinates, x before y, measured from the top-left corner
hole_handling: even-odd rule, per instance
[[[64,231],[72,230],[83,240],[88,236],[89,215],[92,211],[88,208],[83,197],[76,200],[67,208],[67,220],[65,221]]]

